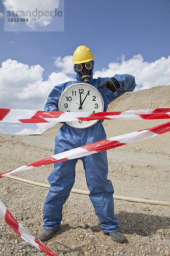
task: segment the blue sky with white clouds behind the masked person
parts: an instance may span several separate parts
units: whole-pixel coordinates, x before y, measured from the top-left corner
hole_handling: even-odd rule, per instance
[[[65,0],[63,11],[64,32],[4,32],[0,3],[0,108],[42,110],[55,82],[74,79],[69,56],[79,45],[92,50],[95,77],[131,73],[137,90],[170,84],[170,0]],[[9,125],[0,123],[0,131],[37,129]]]

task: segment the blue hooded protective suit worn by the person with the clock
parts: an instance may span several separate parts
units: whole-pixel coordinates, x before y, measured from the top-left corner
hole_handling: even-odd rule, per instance
[[[91,61],[94,67],[94,61]],[[69,81],[56,85],[48,96],[45,105],[45,111],[54,111],[58,108],[59,97],[65,88],[69,85],[83,82],[81,76],[74,64],[74,70],[77,73],[77,81]],[[99,84],[107,81],[107,78],[93,79],[91,74],[90,84],[98,89]],[[104,111],[107,111],[108,104],[123,93],[133,91],[136,83],[134,76],[115,75],[119,81],[120,89],[113,93],[107,87],[98,89],[104,100]],[[73,128],[66,123],[59,129],[55,139],[54,154],[77,148],[86,144],[94,143],[106,139],[105,130],[99,120],[89,128]],[[94,206],[96,215],[99,218],[102,230],[105,233],[119,231],[119,220],[114,216],[113,205],[113,186],[111,180],[108,180],[108,161],[106,151],[91,154],[80,158],[83,162],[90,199]],[[65,162],[54,163],[54,169],[48,177],[50,189],[45,200],[44,206],[44,229],[58,230],[62,220],[62,205],[67,200],[75,180],[75,166],[78,159],[68,160]],[[83,207],[83,206],[82,206]]]

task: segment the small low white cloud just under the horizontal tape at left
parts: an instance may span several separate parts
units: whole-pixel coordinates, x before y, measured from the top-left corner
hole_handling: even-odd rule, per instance
[[[17,132],[16,134],[19,134],[19,135],[42,134],[43,132],[53,127],[54,125],[56,125],[56,123],[39,123],[37,124],[38,128],[36,130],[25,128],[22,131]]]

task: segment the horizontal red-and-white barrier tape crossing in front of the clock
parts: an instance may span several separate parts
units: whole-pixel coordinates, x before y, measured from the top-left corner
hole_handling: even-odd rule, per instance
[[[119,112],[74,113],[60,111],[35,111],[24,109],[0,108],[0,122],[69,122],[98,119],[168,119],[170,108],[153,108]]]

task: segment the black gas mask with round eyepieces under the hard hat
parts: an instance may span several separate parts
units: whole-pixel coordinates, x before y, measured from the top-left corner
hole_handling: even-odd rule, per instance
[[[92,72],[92,64],[90,61],[77,64],[77,71],[79,75],[82,77],[85,83],[89,83],[91,72]]]

